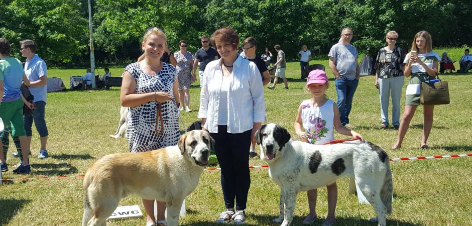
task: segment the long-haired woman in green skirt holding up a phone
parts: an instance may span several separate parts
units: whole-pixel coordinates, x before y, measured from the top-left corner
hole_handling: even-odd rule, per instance
[[[401,148],[411,119],[415,115],[416,108],[420,105],[421,82],[434,79],[437,76],[439,59],[439,55],[432,51],[431,35],[427,31],[416,33],[411,44],[411,52],[406,55],[403,62],[405,63],[403,74],[405,77],[411,76],[411,78],[405,93],[405,110],[398,130],[397,143],[392,146],[392,149]],[[434,105],[423,106],[423,136],[420,144],[422,149],[428,148],[426,142],[433,126],[433,111]]]

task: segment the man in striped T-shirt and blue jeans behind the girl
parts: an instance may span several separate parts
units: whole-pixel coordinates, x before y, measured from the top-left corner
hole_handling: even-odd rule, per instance
[[[352,30],[345,27],[341,31],[340,42],[334,44],[329,51],[329,68],[334,74],[336,85],[337,107],[339,119],[343,126],[349,125],[349,112],[352,98],[359,84],[360,68],[358,51],[350,43]]]

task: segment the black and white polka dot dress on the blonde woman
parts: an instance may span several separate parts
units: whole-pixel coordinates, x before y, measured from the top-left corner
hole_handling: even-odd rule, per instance
[[[178,76],[177,70],[170,64],[163,63],[157,75],[143,72],[138,62],[125,68],[136,79],[135,93],[167,92],[175,99],[172,88]],[[130,143],[130,152],[147,152],[177,145],[180,138],[177,105],[173,101],[161,103],[164,133],[158,136],[155,132],[157,102],[151,101],[136,107],[130,107],[127,118],[126,137]],[[162,130],[160,121],[158,131]]]

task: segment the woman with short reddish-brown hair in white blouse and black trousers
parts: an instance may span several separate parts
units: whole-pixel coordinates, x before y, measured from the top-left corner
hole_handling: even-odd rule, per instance
[[[251,177],[247,148],[264,122],[261,74],[255,63],[238,57],[239,37],[231,28],[216,30],[211,42],[221,56],[203,73],[198,118],[215,140],[226,209],[216,222],[242,224]],[[234,201],[235,200],[235,201]]]

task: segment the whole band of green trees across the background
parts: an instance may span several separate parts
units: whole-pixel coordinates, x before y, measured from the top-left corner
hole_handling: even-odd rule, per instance
[[[95,0],[92,1],[95,58],[124,63],[141,54],[148,27],[164,28],[174,52],[186,40],[192,53],[199,37],[228,26],[241,41],[254,36],[258,52],[280,44],[288,59],[305,44],[314,58],[325,57],[344,26],[354,32],[359,52],[376,54],[385,34],[399,33],[397,45],[408,49],[420,30],[428,31],[433,46],[472,43],[470,0]],[[88,64],[88,7],[76,0],[2,0],[0,36],[13,44],[38,42],[38,53],[49,61]],[[112,60],[112,57],[114,58]],[[106,60],[105,60],[106,59]],[[51,62],[52,61],[52,62]]]

